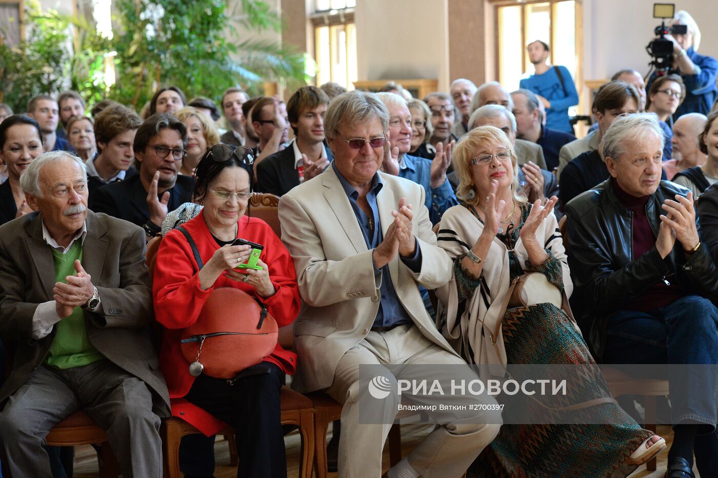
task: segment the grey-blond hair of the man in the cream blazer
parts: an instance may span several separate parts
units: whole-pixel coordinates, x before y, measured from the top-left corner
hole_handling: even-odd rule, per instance
[[[327,139],[334,139],[342,123],[363,123],[378,118],[381,131],[389,127],[389,112],[376,94],[352,90],[335,97],[324,117],[324,132]]]

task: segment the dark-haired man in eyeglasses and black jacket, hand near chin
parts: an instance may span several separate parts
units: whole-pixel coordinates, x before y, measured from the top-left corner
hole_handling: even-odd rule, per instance
[[[195,179],[177,174],[187,154],[187,128],[157,113],[141,124],[133,146],[139,174],[97,189],[90,209],[139,225],[153,238],[167,212],[191,200]]]

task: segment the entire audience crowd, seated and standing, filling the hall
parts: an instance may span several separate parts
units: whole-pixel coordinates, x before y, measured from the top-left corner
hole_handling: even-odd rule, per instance
[[[287,375],[342,404],[340,477],[379,477],[401,401],[363,423],[361,365],[401,365],[397,380],[452,365],[449,383],[475,378],[467,364],[597,363],[653,364],[671,390],[666,477],[718,477],[718,378],[660,371],[718,365],[718,61],[689,14],[671,24],[687,27],[666,36],[671,72],[616,72],[584,136],[539,40],[513,92],[458,78],[426,98],[327,83],[215,104],[168,85],[139,112],[88,114],[74,91],[0,104],[0,478],[71,476],[45,436],[80,410],[124,477],[162,476],[169,416],[201,432],[182,439],[185,477],[213,476],[225,423],[238,477],[286,477]],[[281,234],[251,217],[256,193],[276,196]],[[551,296],[508,306],[529,273]],[[255,309],[257,329],[293,324],[293,347],[218,375]],[[226,317],[197,332],[210,310]],[[554,411],[608,424],[502,425],[491,396],[447,398],[471,406],[435,413],[386,476],[627,476],[666,447],[600,372],[581,386],[594,400]]]

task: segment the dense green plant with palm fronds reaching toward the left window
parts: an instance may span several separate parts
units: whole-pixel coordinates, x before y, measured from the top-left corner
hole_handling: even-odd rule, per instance
[[[120,0],[118,9],[124,21],[111,98],[136,108],[160,85],[218,100],[230,86],[257,90],[264,81],[307,81],[302,54],[234,32],[235,22],[255,32],[281,29],[264,1],[242,0],[239,18],[228,14],[225,0]]]

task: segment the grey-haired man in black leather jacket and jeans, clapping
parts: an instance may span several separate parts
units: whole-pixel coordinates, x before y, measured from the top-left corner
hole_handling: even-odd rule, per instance
[[[611,178],[566,208],[572,306],[599,361],[717,364],[718,268],[701,244],[691,193],[660,180],[662,149],[653,113],[618,118],[605,134]],[[667,476],[693,477],[694,452],[701,476],[715,476],[716,380],[668,380]]]

